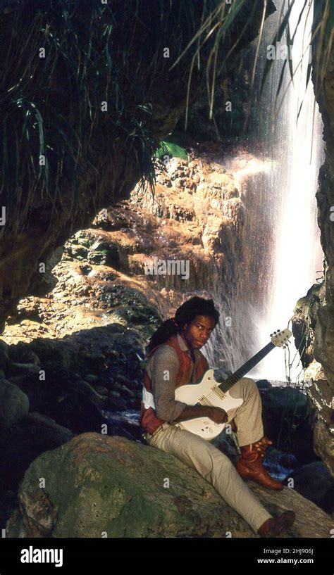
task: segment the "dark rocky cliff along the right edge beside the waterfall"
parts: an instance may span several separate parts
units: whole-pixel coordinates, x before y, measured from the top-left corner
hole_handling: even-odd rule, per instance
[[[314,93],[323,118],[326,158],[318,179],[318,225],[325,255],[325,277],[321,287],[312,289],[296,306],[294,333],[299,343],[306,338],[304,367],[306,377],[314,381],[309,396],[314,401],[318,420],[314,427],[314,448],[334,474],[334,49],[328,44],[333,32],[333,4],[325,13],[323,2],[316,4],[312,51]],[[324,57],[321,65],[318,53]],[[330,50],[328,51],[328,49]],[[302,294],[301,294],[302,295]],[[305,343],[305,341],[304,341]]]

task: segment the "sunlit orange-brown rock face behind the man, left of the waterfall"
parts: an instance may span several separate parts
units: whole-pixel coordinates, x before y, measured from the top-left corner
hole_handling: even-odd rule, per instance
[[[237,300],[245,215],[235,175],[215,161],[219,156],[221,150],[211,151],[208,143],[202,156],[191,149],[188,162],[171,158],[165,166],[156,160],[154,197],[136,187],[130,201],[101,210],[92,227],[72,236],[53,270],[58,284],[45,298],[20,301],[8,319],[6,341],[111,322],[142,326],[147,337],[156,310],[160,317],[173,315],[194,293],[206,296],[221,286]],[[128,296],[120,297],[123,291]]]

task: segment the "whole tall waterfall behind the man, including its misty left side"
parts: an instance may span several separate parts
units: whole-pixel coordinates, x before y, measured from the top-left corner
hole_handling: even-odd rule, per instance
[[[243,285],[237,301],[233,298],[231,301],[218,289],[215,299],[223,317],[232,317],[232,327],[219,329],[207,346],[211,363],[214,360],[218,365],[223,353],[225,364],[233,371],[263,348],[273,331],[287,327],[297,300],[316,283],[320,275],[316,272],[323,270],[315,197],[318,171],[324,159],[323,124],[311,78],[307,84],[313,1],[295,0],[289,17],[292,48],[287,46],[286,32],[280,43],[271,47],[288,8],[285,0],[275,0],[275,4],[277,11],[266,19],[256,63],[249,129],[252,136],[248,141],[252,160],[242,170],[240,179],[246,239],[238,273],[242,274]],[[255,51],[257,39],[253,44]],[[269,55],[276,60],[260,100],[259,86]],[[287,57],[294,71],[293,83]],[[274,102],[283,66],[275,118]],[[234,159],[226,158],[224,165],[235,173]],[[232,265],[232,277],[224,277],[224,284],[236,282],[236,275]],[[249,372],[249,377],[276,381],[290,377],[290,381],[297,381],[302,366],[292,337],[290,363],[293,358],[292,368],[287,370],[285,353],[280,348],[274,349]]]

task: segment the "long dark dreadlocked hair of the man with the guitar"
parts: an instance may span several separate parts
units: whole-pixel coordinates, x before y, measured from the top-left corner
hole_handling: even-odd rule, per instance
[[[146,347],[147,353],[165,343],[171,336],[180,334],[186,324],[190,324],[197,315],[207,315],[214,320],[214,327],[219,321],[219,312],[214,307],[214,300],[207,300],[195,296],[185,301],[180,308],[176,310],[175,317],[166,320],[154,332]]]

